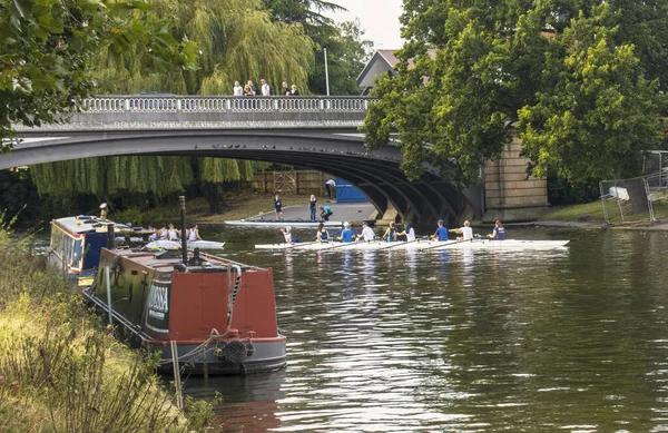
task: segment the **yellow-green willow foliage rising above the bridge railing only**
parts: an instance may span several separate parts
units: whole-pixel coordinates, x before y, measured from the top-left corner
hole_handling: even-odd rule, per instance
[[[305,88],[313,51],[299,23],[272,22],[258,0],[151,0],[158,17],[168,21],[175,38],[199,48],[199,69],[141,76],[140,55],[126,55],[118,66],[104,68],[100,52],[96,78],[104,94],[164,91],[188,95],[229,95],[234,81],[264,78]]]

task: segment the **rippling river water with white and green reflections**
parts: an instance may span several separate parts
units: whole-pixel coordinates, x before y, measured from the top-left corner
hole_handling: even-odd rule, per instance
[[[186,381],[244,432],[668,431],[668,234],[508,229],[551,252],[256,252],[287,367]],[[302,238],[312,234],[301,233]]]

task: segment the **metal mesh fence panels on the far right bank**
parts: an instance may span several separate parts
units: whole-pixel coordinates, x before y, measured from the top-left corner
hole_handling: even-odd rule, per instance
[[[668,217],[668,171],[599,184],[608,225]]]

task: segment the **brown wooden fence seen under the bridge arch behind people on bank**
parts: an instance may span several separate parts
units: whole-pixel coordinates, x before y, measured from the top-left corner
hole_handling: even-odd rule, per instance
[[[315,170],[262,171],[250,180],[250,187],[263,193],[324,195],[325,181],[333,179]]]

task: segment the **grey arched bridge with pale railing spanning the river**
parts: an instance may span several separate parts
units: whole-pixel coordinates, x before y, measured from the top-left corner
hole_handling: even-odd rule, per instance
[[[357,130],[369,104],[366,97],[96,97],[68,121],[17,127],[20,141],[0,154],[0,169],[121,155],[250,159],[346,179],[385,220],[483,216],[482,187],[461,188],[431,167],[409,181],[396,147],[369,151]]]

